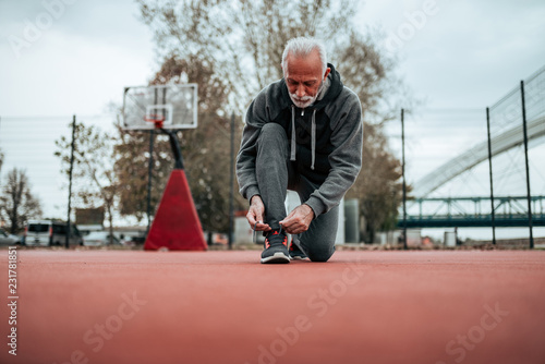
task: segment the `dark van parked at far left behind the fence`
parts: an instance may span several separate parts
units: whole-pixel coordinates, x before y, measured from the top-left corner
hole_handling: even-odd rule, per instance
[[[71,225],[70,245],[83,245],[83,238],[75,225]],[[26,225],[23,243],[26,245],[64,245],[66,222],[55,220],[31,220]]]

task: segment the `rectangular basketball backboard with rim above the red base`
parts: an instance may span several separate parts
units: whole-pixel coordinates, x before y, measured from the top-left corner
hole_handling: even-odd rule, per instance
[[[164,129],[197,128],[197,85],[169,84],[125,87],[123,129],[150,130],[161,119]]]

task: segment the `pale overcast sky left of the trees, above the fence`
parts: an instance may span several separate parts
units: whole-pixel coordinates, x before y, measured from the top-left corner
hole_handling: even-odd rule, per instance
[[[0,114],[100,113],[155,70],[152,35],[133,1],[63,1],[0,0]],[[63,7],[53,8],[51,24],[46,3]],[[28,31],[39,24],[41,34]],[[13,37],[31,41],[17,47]]]

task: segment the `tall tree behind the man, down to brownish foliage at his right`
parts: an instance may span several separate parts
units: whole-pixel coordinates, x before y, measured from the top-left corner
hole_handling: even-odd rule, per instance
[[[400,190],[400,174],[396,172],[399,161],[388,153],[380,125],[397,114],[405,89],[393,73],[396,60],[379,48],[377,33],[361,31],[354,17],[358,1],[137,2],[142,19],[154,31],[162,56],[205,60],[217,80],[225,84],[229,108],[240,114],[259,89],[282,76],[281,56],[290,38],[323,38],[343,83],[360,97],[364,133],[372,131],[366,134],[364,170],[351,195],[360,199],[366,220],[373,221],[367,223],[371,229],[391,226],[399,205],[398,198],[392,201],[390,197]],[[388,167],[378,161],[370,162],[365,159],[368,156],[380,156]],[[377,194],[377,184],[395,191]],[[374,233],[372,231],[371,235]]]

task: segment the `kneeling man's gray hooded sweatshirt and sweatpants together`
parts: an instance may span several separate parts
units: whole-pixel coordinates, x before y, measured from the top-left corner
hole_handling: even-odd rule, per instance
[[[313,209],[314,220],[298,239],[313,262],[332,255],[338,206],[362,166],[360,99],[328,68],[322,92],[305,109],[292,102],[283,78],[265,87],[247,109],[237,156],[240,193],[262,197],[271,229],[287,216],[287,190]]]

